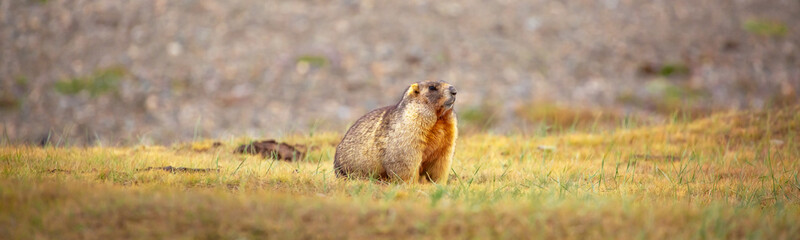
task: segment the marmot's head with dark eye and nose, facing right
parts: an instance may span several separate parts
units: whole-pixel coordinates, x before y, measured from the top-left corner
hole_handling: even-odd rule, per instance
[[[411,84],[403,95],[405,103],[416,103],[442,116],[453,109],[456,102],[456,87],[444,81],[425,81]]]

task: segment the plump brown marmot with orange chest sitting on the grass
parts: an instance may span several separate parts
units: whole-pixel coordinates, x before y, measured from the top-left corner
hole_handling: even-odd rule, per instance
[[[394,106],[359,118],[336,146],[339,177],[446,184],[458,136],[456,88],[444,81],[411,84]]]

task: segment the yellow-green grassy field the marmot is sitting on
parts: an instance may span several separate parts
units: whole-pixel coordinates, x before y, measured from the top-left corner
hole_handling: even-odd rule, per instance
[[[800,238],[800,107],[606,131],[458,140],[447,185],[334,177],[338,133],[298,162],[248,139],[0,147],[0,236]],[[175,166],[210,172],[142,170]]]

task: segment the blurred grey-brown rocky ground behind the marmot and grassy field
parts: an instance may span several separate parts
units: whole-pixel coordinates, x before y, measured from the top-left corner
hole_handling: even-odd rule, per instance
[[[0,131],[343,132],[425,79],[465,134],[669,121],[797,103],[798,48],[797,0],[4,0]]]

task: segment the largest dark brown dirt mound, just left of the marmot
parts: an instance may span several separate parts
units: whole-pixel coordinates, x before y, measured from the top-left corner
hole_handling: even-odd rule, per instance
[[[278,160],[294,161],[305,158],[306,150],[308,150],[308,147],[305,145],[289,145],[270,139],[252,142],[250,144],[242,144],[233,152],[254,155],[259,154],[265,158],[269,157]]]

